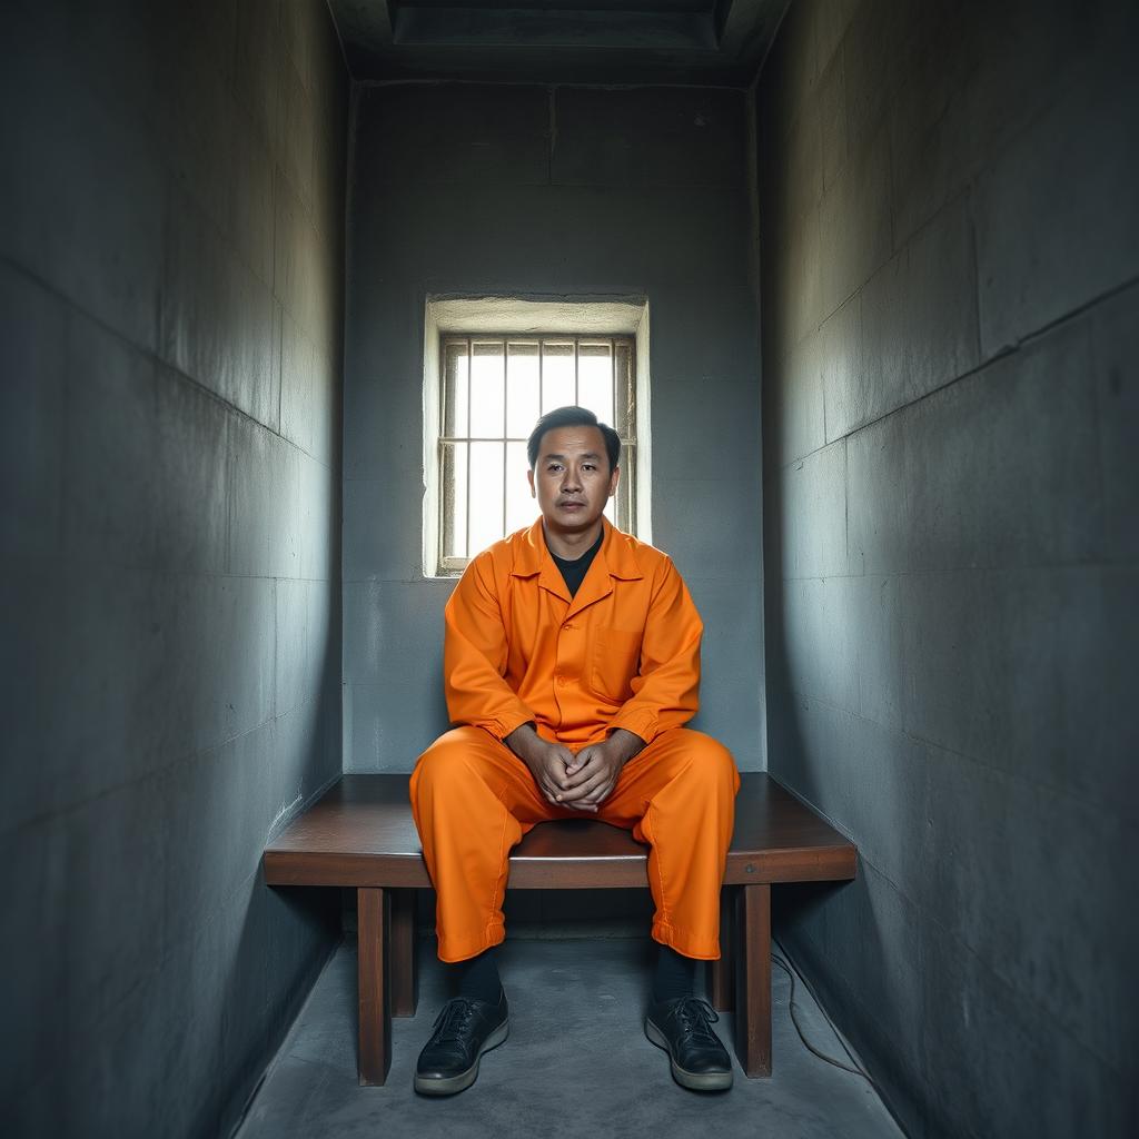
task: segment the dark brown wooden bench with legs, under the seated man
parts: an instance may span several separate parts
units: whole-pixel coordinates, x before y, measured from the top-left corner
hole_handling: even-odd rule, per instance
[[[647,847],[596,820],[544,822],[515,847],[515,890],[648,888]],[[771,885],[854,877],[854,845],[764,772],[743,776],[721,906],[711,1000],[734,1010],[748,1076],[771,1074]],[[413,1016],[416,896],[431,885],[405,775],[344,776],[265,850],[271,886],[354,887],[360,1082],[382,1084],[392,1016]]]

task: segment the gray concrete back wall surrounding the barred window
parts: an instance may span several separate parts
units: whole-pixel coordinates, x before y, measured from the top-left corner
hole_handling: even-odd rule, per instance
[[[352,129],[344,767],[408,771],[446,727],[421,572],[431,293],[641,294],[653,540],[707,626],[699,724],[759,768],[756,319],[745,98],[670,88],[362,85]]]

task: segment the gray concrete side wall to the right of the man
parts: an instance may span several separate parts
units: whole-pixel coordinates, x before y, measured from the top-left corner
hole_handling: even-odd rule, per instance
[[[1118,3],[792,6],[757,87],[779,929],[915,1136],[1139,1129]]]

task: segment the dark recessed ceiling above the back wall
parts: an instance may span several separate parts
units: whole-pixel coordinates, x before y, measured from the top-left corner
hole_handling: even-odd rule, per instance
[[[746,87],[789,0],[329,0],[352,77]]]

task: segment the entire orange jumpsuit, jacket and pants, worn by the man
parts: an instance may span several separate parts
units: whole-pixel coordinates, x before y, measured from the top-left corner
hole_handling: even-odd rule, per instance
[[[653,937],[686,957],[720,956],[739,776],[724,747],[683,727],[698,706],[703,625],[672,562],[604,525],[575,597],[539,518],[474,558],[446,604],[446,704],[461,727],[435,740],[411,776],[444,961],[505,939],[507,860],[523,835],[547,819],[583,817],[547,802],[501,743],[531,721],[575,753],[616,728],[646,741],[596,818],[649,845]]]

